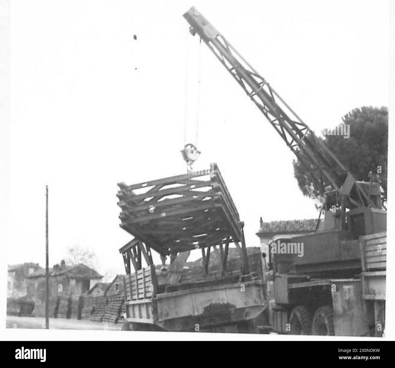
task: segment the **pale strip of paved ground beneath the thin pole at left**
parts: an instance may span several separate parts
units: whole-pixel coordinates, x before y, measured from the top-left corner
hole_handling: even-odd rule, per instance
[[[7,316],[8,329],[45,329],[44,317],[16,317]],[[120,330],[122,323],[93,322],[79,319],[50,318],[49,328],[55,330]]]

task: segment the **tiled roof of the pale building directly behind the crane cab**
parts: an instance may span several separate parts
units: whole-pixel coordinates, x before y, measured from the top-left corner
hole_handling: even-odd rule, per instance
[[[293,233],[311,233],[316,231],[318,219],[310,218],[307,220],[285,220],[263,222],[261,219],[260,234],[293,234]]]

